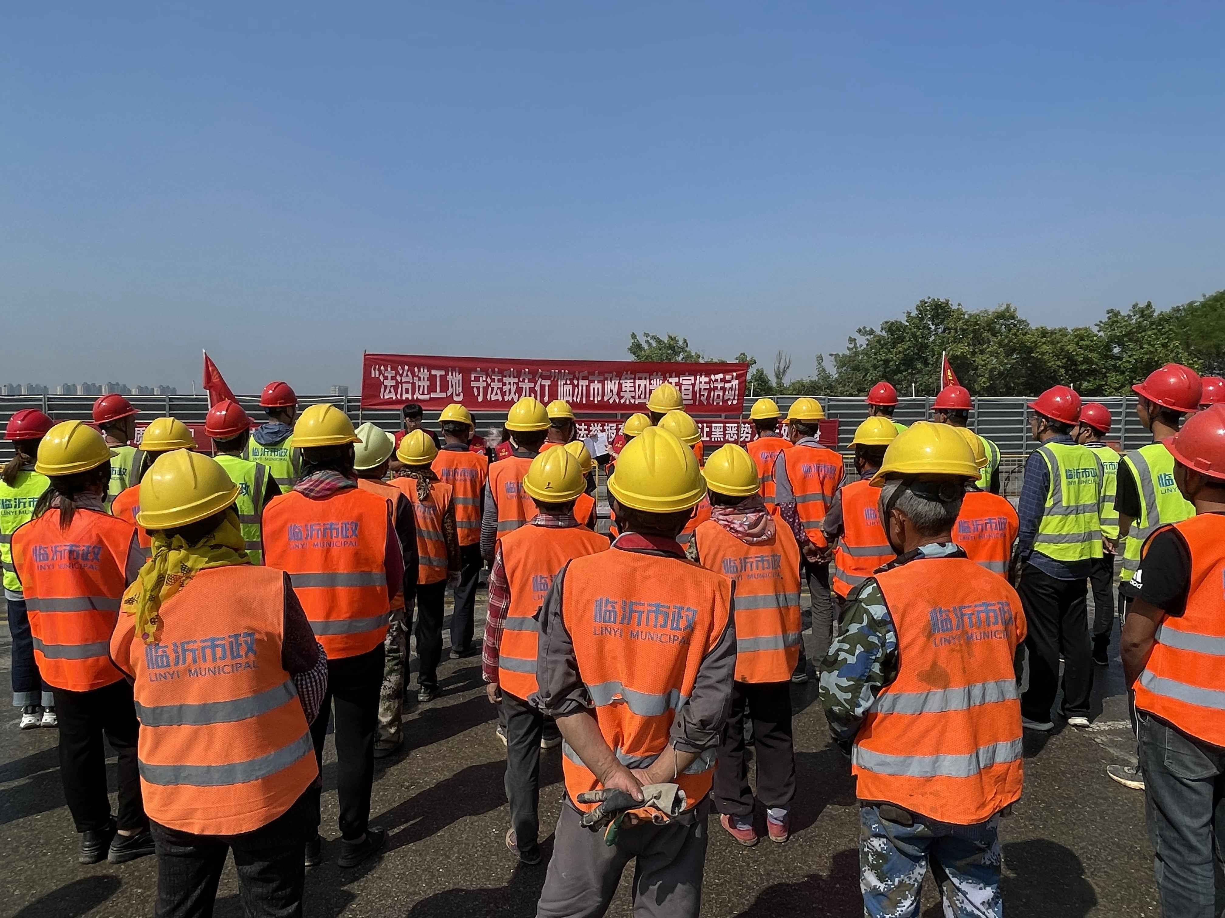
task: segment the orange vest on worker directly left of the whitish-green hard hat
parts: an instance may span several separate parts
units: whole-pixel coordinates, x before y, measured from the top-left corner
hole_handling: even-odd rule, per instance
[[[392,508],[360,487],[274,497],[263,510],[263,563],[290,575],[328,660],[368,654],[387,636]]]

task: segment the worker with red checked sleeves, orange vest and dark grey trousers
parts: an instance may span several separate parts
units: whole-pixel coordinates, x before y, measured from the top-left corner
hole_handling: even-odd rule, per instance
[[[581,446],[581,444],[579,444]],[[567,562],[606,551],[609,540],[575,518],[583,472],[568,449],[546,449],[532,460],[523,490],[537,513],[528,525],[497,540],[489,573],[489,614],[481,674],[490,703],[500,704],[506,732],[506,847],[524,864],[540,863],[540,747],[545,716],[528,704],[537,685],[537,621],[554,577]]]

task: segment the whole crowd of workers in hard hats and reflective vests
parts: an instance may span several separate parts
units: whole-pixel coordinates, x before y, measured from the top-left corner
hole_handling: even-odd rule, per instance
[[[1166,365],[1133,388],[1153,443],[1125,455],[1102,405],[1067,387],[1030,403],[1040,446],[1013,508],[962,387],[909,427],[873,387],[844,481],[817,400],[785,417],[758,400],[747,449],[706,457],[665,383],[608,459],[611,537],[562,401],[521,400],[491,449],[462,405],[441,439],[419,406],[392,437],[332,405],[299,414],[273,382],[262,425],[211,409],[213,457],[172,417],[134,446],[120,395],[93,426],[18,411],[0,561],[21,728],[59,728],[81,863],[157,854],[156,914],[209,914],[230,849],[247,914],[301,914],[333,711],[352,868],[385,842],[374,761],[403,742],[409,635],[417,698],[437,696],[450,588],[451,656],[481,655],[524,864],[541,860],[540,750],[561,745],[539,916],[603,914],[630,860],[635,914],[696,916],[712,810],[741,845],[786,842],[804,793],[790,683],[813,670],[856,778],[865,914],[918,914],[931,867],[947,914],[1000,916],[1023,731],[1089,726],[1121,551],[1138,764],[1110,774],[1148,794],[1163,913],[1207,918],[1225,831],[1225,383]]]

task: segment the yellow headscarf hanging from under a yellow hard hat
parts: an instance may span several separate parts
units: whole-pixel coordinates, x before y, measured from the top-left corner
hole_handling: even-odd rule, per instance
[[[136,616],[136,634],[146,644],[156,641],[162,630],[162,603],[186,586],[196,572],[250,563],[233,507],[217,529],[195,543],[189,545],[181,535],[168,537],[159,531],[151,537],[153,554],[124,591],[123,605],[126,614]]]

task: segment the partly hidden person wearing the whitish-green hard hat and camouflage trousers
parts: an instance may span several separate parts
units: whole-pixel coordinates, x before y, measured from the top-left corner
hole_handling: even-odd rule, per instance
[[[358,487],[391,502],[392,528],[404,559],[403,588],[391,597],[387,636],[383,638],[383,682],[379,690],[379,736],[375,739],[375,758],[383,759],[404,743],[401,722],[404,715],[404,679],[408,674],[408,635],[413,632],[413,611],[417,603],[417,514],[408,494],[385,481],[394,450],[391,435],[369,421],[355,432],[360,441],[353,447],[353,471],[358,476]]]

